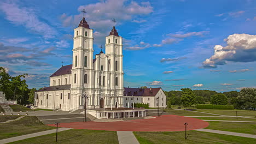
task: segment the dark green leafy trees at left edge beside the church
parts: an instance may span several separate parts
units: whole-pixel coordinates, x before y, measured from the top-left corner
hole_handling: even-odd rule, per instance
[[[27,74],[10,76],[7,71],[0,67],[0,91],[4,92],[5,99],[17,100],[18,103],[33,104],[34,92],[36,88],[28,88],[26,80]]]

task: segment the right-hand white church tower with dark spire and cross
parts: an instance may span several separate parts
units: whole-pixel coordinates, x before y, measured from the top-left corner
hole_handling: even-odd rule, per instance
[[[115,22],[115,20],[113,20]],[[106,55],[109,57],[111,72],[110,88],[115,89],[115,95],[123,95],[124,72],[123,72],[123,38],[118,35],[117,29],[113,26],[106,37]]]

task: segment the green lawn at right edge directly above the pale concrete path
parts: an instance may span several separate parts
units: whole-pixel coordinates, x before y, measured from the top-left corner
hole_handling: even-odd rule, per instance
[[[256,123],[240,122],[208,122],[210,125],[206,129],[232,131],[256,135]]]

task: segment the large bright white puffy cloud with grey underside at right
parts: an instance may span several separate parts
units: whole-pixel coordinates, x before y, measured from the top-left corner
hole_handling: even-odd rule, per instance
[[[214,55],[202,63],[204,68],[217,68],[226,62],[256,61],[256,35],[232,34],[225,39],[227,46],[214,46]]]

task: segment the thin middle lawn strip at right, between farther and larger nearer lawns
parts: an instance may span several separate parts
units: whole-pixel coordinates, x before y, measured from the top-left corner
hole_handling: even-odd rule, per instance
[[[256,122],[256,118],[243,118],[243,117],[194,117],[203,120],[224,120],[224,121],[252,121]],[[255,123],[256,124],[256,123]]]

